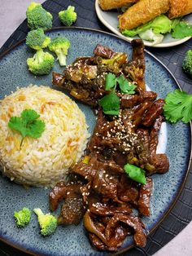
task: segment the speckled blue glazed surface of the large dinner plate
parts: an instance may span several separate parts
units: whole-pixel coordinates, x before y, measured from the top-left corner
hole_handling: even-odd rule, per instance
[[[114,51],[124,51],[132,54],[130,43],[110,33],[103,33],[94,29],[66,28],[53,29],[47,33],[51,38],[57,35],[67,37],[72,45],[68,52],[68,64],[78,56],[93,54],[97,43],[111,47]],[[51,74],[49,76],[34,77],[28,72],[26,59],[33,55],[24,42],[20,42],[11,50],[0,57],[0,95],[1,99],[15,91],[17,86],[23,87],[33,83],[37,85],[51,86]],[[62,72],[63,68],[55,63],[55,71]],[[155,90],[159,97],[165,97],[168,91],[177,88],[177,82],[168,69],[146,51],[146,84]],[[79,104],[85,113],[89,124],[89,131],[94,128],[95,117],[88,106]],[[185,183],[190,165],[190,126],[181,122],[176,125],[164,125],[161,132],[162,142],[160,150],[168,154],[170,170],[167,174],[155,174],[154,191],[151,198],[151,217],[143,218],[146,229],[151,232],[164,219],[172,205],[177,200],[181,188]],[[88,237],[82,223],[79,226],[58,227],[55,234],[42,237],[35,214],[32,215],[28,227],[18,229],[15,227],[13,213],[27,206],[29,209],[40,207],[49,212],[48,192],[44,188],[23,188],[12,183],[7,178],[0,176],[0,201],[1,219],[0,236],[2,241],[15,246],[30,254],[43,254],[51,256],[63,255],[107,255],[105,252],[94,250],[89,244]],[[55,214],[59,214],[57,211]],[[133,245],[133,239],[129,237],[119,252],[129,249]]]

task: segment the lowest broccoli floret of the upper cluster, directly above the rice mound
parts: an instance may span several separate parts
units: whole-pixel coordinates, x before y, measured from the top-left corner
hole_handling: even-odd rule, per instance
[[[49,52],[38,50],[33,58],[28,58],[28,70],[35,75],[47,75],[54,66],[54,56]]]

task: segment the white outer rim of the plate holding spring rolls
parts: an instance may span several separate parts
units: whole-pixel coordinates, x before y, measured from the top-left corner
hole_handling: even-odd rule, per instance
[[[134,38],[131,37],[125,37],[122,33],[120,33],[118,30],[116,30],[114,27],[111,26],[111,24],[109,24],[105,19],[103,19],[103,16],[101,14],[101,11],[103,11],[99,5],[98,5],[98,0],[95,0],[95,11],[98,15],[98,19],[107,27],[107,29],[110,29],[113,33],[116,33],[116,35],[118,35],[120,38],[123,38],[124,40],[131,42]],[[175,42],[160,42],[156,45],[153,45],[152,42],[146,41],[146,40],[142,40],[144,42],[145,46],[150,46],[150,47],[154,47],[154,48],[163,48],[163,47],[172,47],[172,46],[178,46],[183,42],[186,42],[188,40],[190,40],[190,38],[192,37],[186,37],[186,38],[182,38],[180,40],[177,40]]]

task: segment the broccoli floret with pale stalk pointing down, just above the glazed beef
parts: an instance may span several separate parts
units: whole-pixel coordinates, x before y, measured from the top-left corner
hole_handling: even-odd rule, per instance
[[[60,66],[66,66],[66,55],[68,55],[68,48],[71,43],[67,38],[58,37],[54,38],[49,44],[49,50],[54,51],[58,57]]]

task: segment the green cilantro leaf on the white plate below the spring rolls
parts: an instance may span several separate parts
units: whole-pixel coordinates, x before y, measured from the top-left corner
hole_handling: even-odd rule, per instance
[[[185,37],[192,37],[192,24],[181,21],[173,29],[172,38],[181,39]]]

